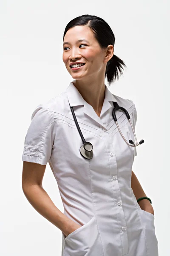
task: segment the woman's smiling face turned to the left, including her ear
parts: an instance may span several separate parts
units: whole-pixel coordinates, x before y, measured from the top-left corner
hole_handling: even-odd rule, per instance
[[[82,40],[82,41],[79,41]],[[64,37],[62,60],[73,79],[87,79],[88,76],[98,77],[113,56],[113,45],[104,50],[94,37],[94,33],[87,26],[74,26]],[[85,63],[82,67],[71,68],[74,62]]]

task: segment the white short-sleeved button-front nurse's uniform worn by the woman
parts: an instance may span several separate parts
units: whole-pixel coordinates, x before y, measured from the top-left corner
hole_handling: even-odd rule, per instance
[[[99,117],[74,82],[34,110],[22,156],[23,161],[49,163],[64,214],[81,225],[66,238],[62,233],[62,256],[158,256],[154,215],[139,207],[131,189],[136,147],[125,143],[112,116],[116,101],[129,112],[135,127],[135,105],[113,96],[105,86]],[[79,152],[83,143],[68,100],[85,140],[93,145],[91,160]],[[116,117],[125,138],[135,142],[125,113],[118,110]]]

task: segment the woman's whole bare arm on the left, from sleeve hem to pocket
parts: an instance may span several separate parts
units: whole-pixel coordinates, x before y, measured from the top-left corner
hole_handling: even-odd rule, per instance
[[[63,214],[43,189],[42,179],[45,168],[46,165],[23,161],[22,187],[24,195],[37,212],[58,227],[65,236],[68,236],[81,226]]]

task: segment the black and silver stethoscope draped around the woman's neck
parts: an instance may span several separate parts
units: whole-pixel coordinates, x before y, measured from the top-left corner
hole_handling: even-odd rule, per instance
[[[70,103],[69,103],[69,105],[70,105]],[[123,108],[123,107],[119,107],[119,105],[118,105],[117,102],[113,102],[113,105],[114,105],[114,108],[113,108],[113,111],[112,111],[113,119],[114,119],[114,121],[116,122],[117,128],[119,129],[119,132],[121,133],[121,135],[122,135],[123,139],[125,140],[125,142],[127,143],[127,145],[129,145],[129,146],[131,146],[131,147],[136,147],[136,146],[141,145],[142,143],[144,143],[144,140],[141,140],[141,141],[138,143],[138,141],[137,141],[137,139],[136,139],[135,131],[134,131],[134,129],[133,129],[133,125],[132,125],[132,123],[131,123],[131,121],[130,121],[130,115],[129,115],[129,113],[127,112],[127,110],[126,110],[125,108]],[[82,131],[81,131],[80,128],[79,128],[79,124],[78,124],[78,122],[77,122],[77,118],[76,118],[76,116],[75,116],[74,109],[73,109],[73,107],[71,107],[71,106],[70,106],[70,108],[71,108],[71,113],[72,113],[73,118],[74,118],[74,122],[75,122],[75,124],[76,124],[76,126],[77,126],[77,129],[78,129],[78,131],[79,131],[79,134],[80,134],[80,137],[81,137],[82,143],[83,143],[83,145],[82,145],[82,146],[80,147],[80,149],[79,149],[80,154],[81,154],[82,157],[84,157],[85,159],[91,159],[91,158],[93,157],[93,145],[92,145],[90,142],[85,141],[85,138],[84,138],[83,135],[82,135]],[[116,113],[115,113],[116,110],[118,110],[118,109],[122,110],[122,111],[125,113],[127,119],[129,120],[130,125],[131,125],[132,130],[133,130],[133,134],[134,134],[134,136],[135,136],[135,142],[136,142],[136,144],[133,143],[133,140],[129,140],[129,142],[127,142],[127,140],[126,140],[125,137],[123,136],[122,132],[120,131],[119,125],[118,125],[118,123],[117,123]]]

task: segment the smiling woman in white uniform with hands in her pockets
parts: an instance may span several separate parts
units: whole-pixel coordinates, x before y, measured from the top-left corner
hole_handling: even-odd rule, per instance
[[[114,34],[102,18],[82,15],[68,23],[63,41],[63,62],[74,80],[32,114],[22,156],[23,192],[62,231],[62,256],[158,256],[153,207],[132,171],[136,147],[125,142],[112,116],[118,104],[135,128],[136,108],[105,85],[105,77],[110,86],[126,67],[114,55]],[[116,118],[125,139],[134,140],[125,113],[117,110]],[[85,151],[85,141],[93,150]],[[47,163],[64,213],[42,187]]]

